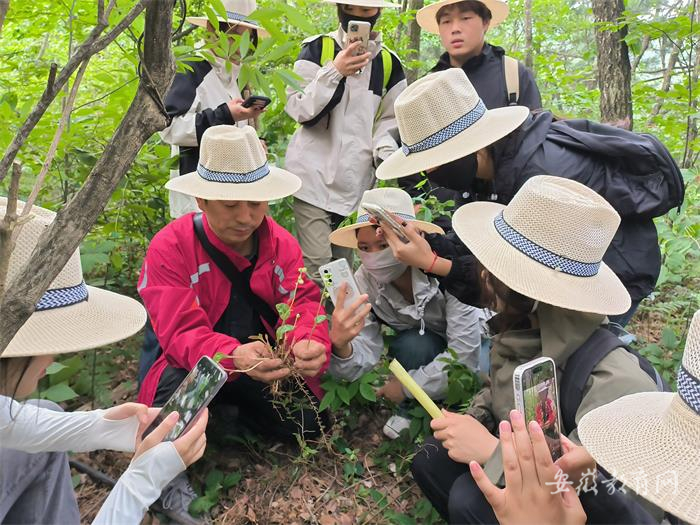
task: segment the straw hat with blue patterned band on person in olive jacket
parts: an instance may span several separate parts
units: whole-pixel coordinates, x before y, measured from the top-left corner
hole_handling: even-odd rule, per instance
[[[529,179],[508,206],[473,202],[452,227],[481,264],[526,297],[579,312],[621,314],[630,296],[602,262],[620,216],[595,191],[561,177]]]

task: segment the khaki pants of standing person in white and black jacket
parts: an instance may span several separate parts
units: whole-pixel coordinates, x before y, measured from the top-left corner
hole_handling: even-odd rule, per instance
[[[319,266],[345,258],[352,268],[353,249],[332,245],[328,240],[330,233],[343,222],[345,217],[332,213],[313,204],[294,199],[292,204],[294,220],[297,227],[297,238],[304,252],[304,264],[316,284],[323,288]]]

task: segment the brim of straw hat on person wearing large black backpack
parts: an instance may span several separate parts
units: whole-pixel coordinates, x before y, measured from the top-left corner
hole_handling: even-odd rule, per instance
[[[409,155],[399,148],[379,165],[376,176],[398,179],[466,157],[517,129],[529,113],[525,106],[489,109],[478,122],[439,146]]]

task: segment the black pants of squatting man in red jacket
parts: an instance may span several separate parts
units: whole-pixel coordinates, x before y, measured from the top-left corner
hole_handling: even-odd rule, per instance
[[[187,373],[187,370],[168,365],[160,376],[153,406],[163,406]],[[216,417],[218,404],[233,405],[238,408],[237,422],[256,434],[292,442],[296,441],[295,434],[300,434],[305,439],[314,439],[322,431],[322,425],[318,420],[318,399],[308,388],[307,394],[308,397],[301,392],[295,394],[295,399],[298,399],[295,407],[282,407],[279,404],[275,406],[267,383],[255,381],[241,374],[237,379],[221,387],[211,403],[214,409],[212,413],[213,417]],[[309,397],[316,410],[308,406]],[[323,426],[326,426],[325,412],[321,416]]]

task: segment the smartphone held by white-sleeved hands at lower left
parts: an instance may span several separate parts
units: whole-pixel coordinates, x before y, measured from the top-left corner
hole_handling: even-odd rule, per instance
[[[214,399],[216,393],[226,382],[227,376],[226,371],[212,358],[203,356],[163,405],[158,416],[144,432],[144,436],[150,434],[160,425],[168,417],[168,414],[177,412],[180,414],[180,419],[165,436],[164,441],[174,441],[179,438]]]

